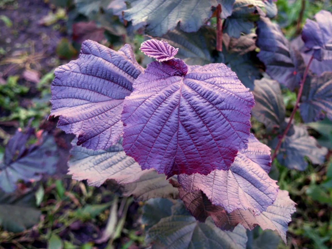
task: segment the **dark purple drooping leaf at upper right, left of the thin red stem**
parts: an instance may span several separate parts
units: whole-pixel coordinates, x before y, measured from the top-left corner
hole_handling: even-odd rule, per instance
[[[256,45],[260,48],[257,57],[265,64],[266,72],[293,91],[305,69],[301,53],[290,46],[279,26],[269,18],[260,18],[256,33]]]

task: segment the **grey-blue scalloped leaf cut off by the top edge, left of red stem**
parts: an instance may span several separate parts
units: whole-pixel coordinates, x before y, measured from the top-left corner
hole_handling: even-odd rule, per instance
[[[146,32],[154,37],[161,37],[168,30],[176,28],[185,32],[196,32],[211,17],[215,0],[135,0],[131,1],[124,19],[132,24],[144,24]]]

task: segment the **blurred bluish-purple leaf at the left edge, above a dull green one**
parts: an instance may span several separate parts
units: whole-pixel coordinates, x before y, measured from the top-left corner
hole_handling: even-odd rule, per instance
[[[3,160],[0,161],[0,189],[13,192],[18,180],[39,180],[41,174],[53,174],[59,159],[54,138],[43,133],[38,142],[26,147],[34,129],[17,130],[8,141]]]

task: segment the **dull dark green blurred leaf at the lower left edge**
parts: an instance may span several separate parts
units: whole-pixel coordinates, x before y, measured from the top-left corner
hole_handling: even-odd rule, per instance
[[[7,194],[0,190],[0,227],[8,232],[23,232],[38,223],[41,211],[34,193]]]

